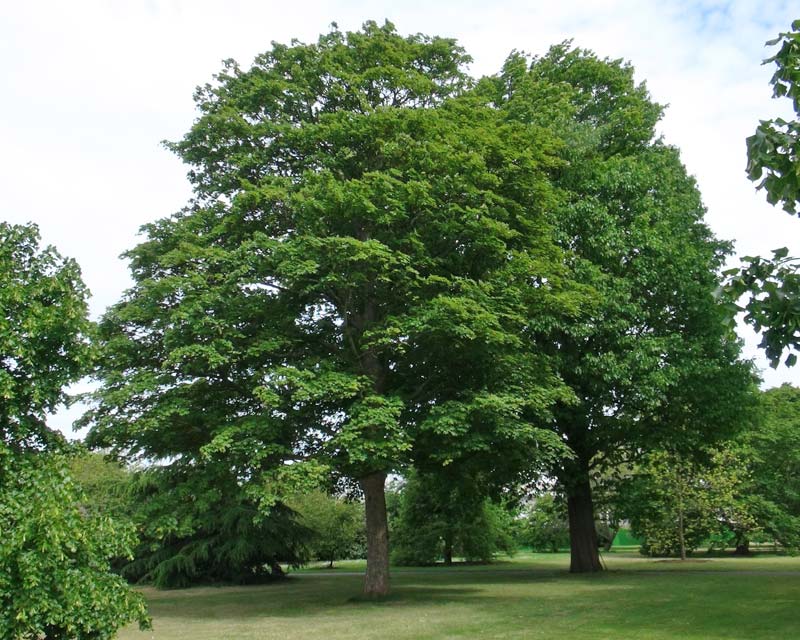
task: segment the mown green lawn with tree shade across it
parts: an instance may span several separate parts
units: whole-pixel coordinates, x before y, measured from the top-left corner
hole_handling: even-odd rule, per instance
[[[360,600],[358,563],[296,572],[266,586],[144,589],[153,631],[130,628],[118,637],[800,637],[800,558],[683,564],[612,553],[605,559],[609,571],[593,576],[568,574],[567,554],[521,554],[483,567],[397,569],[393,593],[381,602]]]

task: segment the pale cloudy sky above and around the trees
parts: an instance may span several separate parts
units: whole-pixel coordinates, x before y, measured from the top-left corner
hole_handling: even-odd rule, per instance
[[[475,76],[512,49],[544,53],[573,38],[624,58],[669,107],[660,131],[699,183],[707,222],[739,255],[788,246],[800,221],[766,204],[744,173],[759,119],[788,115],[771,99],[764,42],[800,7],[782,0],[0,0],[2,218],[36,222],[44,242],[81,265],[95,317],[130,285],[119,255],[138,228],[188,200],[185,167],[160,145],[194,118],[194,87],[220,62],[243,66],[271,41],[309,42],[389,19],[401,33],[456,38]],[[742,330],[764,386],[800,386],[800,366],[770,369]],[[69,429],[76,411],[53,426]]]

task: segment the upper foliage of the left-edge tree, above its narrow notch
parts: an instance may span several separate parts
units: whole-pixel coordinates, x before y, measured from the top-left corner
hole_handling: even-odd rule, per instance
[[[74,260],[39,247],[34,225],[0,222],[0,441],[42,448],[64,387],[90,358],[86,297]]]

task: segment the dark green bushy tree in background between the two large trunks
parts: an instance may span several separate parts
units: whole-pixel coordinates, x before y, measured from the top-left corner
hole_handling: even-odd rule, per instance
[[[397,565],[451,564],[453,558],[489,562],[516,547],[512,514],[490,500],[476,478],[410,473],[391,526]]]

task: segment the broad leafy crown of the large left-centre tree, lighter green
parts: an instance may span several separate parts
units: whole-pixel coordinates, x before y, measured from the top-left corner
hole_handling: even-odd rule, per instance
[[[467,61],[367,23],[198,90],[171,145],[195,198],[128,254],[93,444],[231,470],[265,509],[335,469],[376,514],[412,457],[561,451],[536,427],[568,394],[533,348],[579,301],[545,216],[556,142],[466,93]]]

